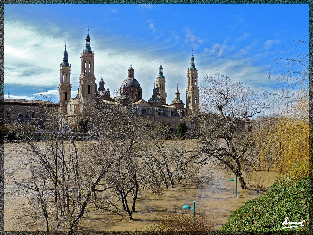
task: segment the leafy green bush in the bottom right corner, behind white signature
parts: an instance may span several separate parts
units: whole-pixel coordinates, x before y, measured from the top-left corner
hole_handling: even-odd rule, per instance
[[[231,213],[220,231],[270,232],[309,231],[310,216],[310,179],[305,177],[293,183],[282,180],[274,183],[269,193],[249,200],[244,206]],[[288,222],[305,220],[304,227],[286,228],[295,225],[283,225]]]

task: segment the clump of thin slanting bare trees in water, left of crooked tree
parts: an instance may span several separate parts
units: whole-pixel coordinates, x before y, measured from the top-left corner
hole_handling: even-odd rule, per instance
[[[198,155],[187,152],[183,140],[175,137],[168,139],[169,136],[169,126],[163,123],[151,123],[147,128],[146,141],[138,146],[139,158],[153,173],[155,185],[159,188],[162,184],[166,188],[169,186],[175,188],[183,180],[187,183],[193,181],[191,179],[194,179],[203,166],[194,162]]]

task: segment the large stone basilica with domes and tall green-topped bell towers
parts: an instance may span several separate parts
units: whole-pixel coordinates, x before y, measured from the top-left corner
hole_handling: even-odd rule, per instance
[[[134,75],[134,68],[130,60],[128,68],[128,76],[121,84],[118,95],[111,97],[109,86],[105,88],[105,82],[101,73],[99,88],[95,82],[95,54],[91,50],[89,29],[85,39],[85,48],[81,53],[81,73],[79,77],[79,87],[77,96],[71,97],[72,86],[70,83],[71,66],[68,61],[68,52],[63,54],[63,61],[60,64],[60,83],[59,83],[59,104],[61,110],[66,112],[68,118],[83,113],[83,105],[85,101],[101,100],[108,105],[119,104],[126,107],[135,107],[139,116],[148,115],[153,120],[162,123],[176,124],[182,121],[183,116],[188,109],[199,109],[199,88],[198,88],[198,70],[195,67],[193,51],[191,56],[190,68],[187,70],[187,89],[186,89],[186,107],[180,98],[180,92],[175,92],[175,99],[168,104],[167,93],[165,89],[165,76],[163,75],[162,60],[160,61],[159,74],[156,77],[156,83],[152,90],[151,97],[148,101],[141,97],[141,86]],[[151,84],[153,87],[153,84]]]

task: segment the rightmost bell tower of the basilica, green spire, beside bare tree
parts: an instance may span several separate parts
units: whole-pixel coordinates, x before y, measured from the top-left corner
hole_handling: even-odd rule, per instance
[[[195,58],[192,56],[190,59],[190,67],[187,71],[187,109],[199,110],[199,87],[198,87],[198,70],[195,67]]]

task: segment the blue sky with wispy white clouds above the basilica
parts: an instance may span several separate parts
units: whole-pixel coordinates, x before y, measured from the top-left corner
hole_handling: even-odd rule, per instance
[[[192,49],[199,78],[218,71],[273,91],[270,66],[279,52],[289,53],[280,51],[287,42],[309,35],[309,4],[4,4],[4,97],[9,91],[10,98],[34,99],[39,92],[58,102],[65,41],[76,96],[87,25],[98,86],[103,71],[105,86],[118,91],[132,57],[148,100],[162,58],[167,102],[178,84],[186,103]]]

